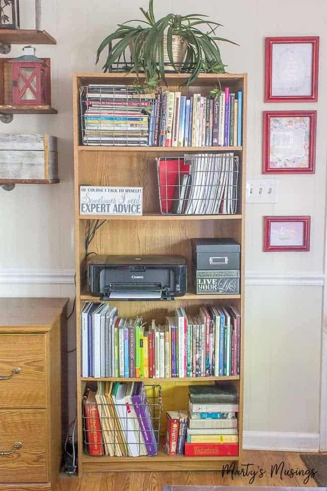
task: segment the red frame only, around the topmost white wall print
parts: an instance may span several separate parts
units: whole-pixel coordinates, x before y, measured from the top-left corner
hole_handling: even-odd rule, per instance
[[[273,45],[291,43],[312,44],[311,63],[311,94],[310,95],[273,95],[272,71],[273,71]],[[319,37],[267,37],[266,38],[266,77],[265,77],[265,102],[316,102],[318,100],[318,69],[319,69]]]

